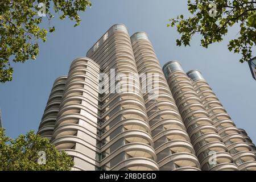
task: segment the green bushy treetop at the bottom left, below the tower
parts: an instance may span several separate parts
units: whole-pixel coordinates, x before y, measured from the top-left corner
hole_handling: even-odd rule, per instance
[[[6,137],[0,128],[0,170],[67,171],[73,160],[64,151],[58,152],[48,139],[30,131],[16,139]]]

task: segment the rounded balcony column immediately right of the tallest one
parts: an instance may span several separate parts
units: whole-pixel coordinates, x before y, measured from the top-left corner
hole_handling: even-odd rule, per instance
[[[146,90],[143,96],[159,169],[199,170],[195,151],[147,35],[137,32],[131,36],[131,43],[138,73],[147,79],[152,75],[153,97],[151,90],[145,88],[149,85],[142,83],[142,90]],[[146,80],[142,77],[141,81]]]

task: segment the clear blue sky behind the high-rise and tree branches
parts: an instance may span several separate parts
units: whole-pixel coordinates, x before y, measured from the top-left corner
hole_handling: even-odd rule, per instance
[[[13,64],[13,81],[0,84],[0,108],[7,135],[16,138],[29,130],[38,130],[44,107],[55,78],[67,75],[69,65],[88,49],[110,26],[123,23],[130,35],[147,32],[156,55],[163,65],[179,60],[185,71],[199,69],[236,123],[256,142],[255,104],[256,81],[247,63],[238,62],[241,55],[229,52],[228,40],[237,35],[231,28],[222,43],[208,49],[200,47],[195,36],[191,47],[176,47],[179,37],[176,28],[167,28],[169,18],[179,14],[187,17],[187,1],[113,0],[92,1],[92,9],[81,14],[79,27],[69,20],[55,18],[51,23],[56,31],[40,44],[35,61]],[[44,19],[44,26],[48,25]],[[255,55],[255,52],[254,52]]]

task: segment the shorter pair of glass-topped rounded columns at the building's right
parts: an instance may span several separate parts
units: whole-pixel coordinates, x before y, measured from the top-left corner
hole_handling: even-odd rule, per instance
[[[255,152],[197,70],[163,67],[202,170],[256,170]],[[215,160],[212,160],[214,156]]]

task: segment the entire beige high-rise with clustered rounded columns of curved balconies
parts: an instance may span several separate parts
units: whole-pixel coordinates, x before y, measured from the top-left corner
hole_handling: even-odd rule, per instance
[[[72,170],[254,169],[253,143],[245,133],[222,135],[198,75],[187,76],[176,61],[162,71],[147,34],[130,37],[115,24],[56,79],[38,134],[73,158]],[[238,147],[225,143],[233,138]]]

